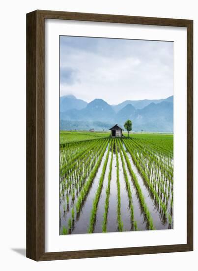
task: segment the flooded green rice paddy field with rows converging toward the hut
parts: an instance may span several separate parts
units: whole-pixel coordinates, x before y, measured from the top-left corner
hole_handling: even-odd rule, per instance
[[[173,135],[60,133],[60,235],[163,229],[173,229]]]

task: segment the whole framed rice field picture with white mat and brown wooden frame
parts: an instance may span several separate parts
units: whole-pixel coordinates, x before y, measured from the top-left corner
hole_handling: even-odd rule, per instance
[[[193,21],[27,14],[27,257],[193,250]]]

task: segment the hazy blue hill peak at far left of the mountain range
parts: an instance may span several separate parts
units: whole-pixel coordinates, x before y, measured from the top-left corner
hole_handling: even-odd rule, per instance
[[[60,97],[60,112],[64,112],[71,109],[81,110],[85,108],[87,102],[76,99],[74,95],[67,95]]]

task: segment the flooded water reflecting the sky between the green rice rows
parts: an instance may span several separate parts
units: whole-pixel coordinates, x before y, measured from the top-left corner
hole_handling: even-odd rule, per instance
[[[100,141],[101,140],[101,141]],[[93,215],[93,233],[102,233],[103,232],[103,222],[104,222],[104,214],[105,214],[105,204],[106,201],[108,201],[108,211],[107,211],[107,223],[106,223],[106,231],[107,232],[117,232],[118,231],[118,187],[117,187],[117,163],[116,163],[116,153],[115,153],[115,145],[117,146],[117,157],[118,157],[118,181],[120,186],[120,216],[121,221],[123,223],[123,229],[122,231],[144,231],[148,229],[148,222],[147,218],[145,216],[145,213],[143,211],[141,198],[139,195],[139,192],[136,187],[136,183],[133,180],[133,177],[130,174],[130,170],[128,168],[128,165],[126,163],[126,156],[128,157],[128,160],[131,165],[131,169],[133,170],[134,174],[137,177],[138,184],[141,188],[141,193],[144,198],[144,202],[150,212],[150,215],[153,220],[153,225],[156,230],[165,230],[165,229],[171,229],[173,228],[173,212],[172,212],[172,203],[171,203],[171,191],[172,191],[172,184],[171,180],[168,180],[169,185],[165,184],[163,182],[163,193],[167,193],[167,213],[163,213],[162,208],[160,207],[159,203],[156,203],[155,198],[153,197],[153,194],[151,193],[149,189],[149,185],[146,183],[143,175],[141,174],[140,170],[137,168],[135,161],[133,160],[131,154],[128,152],[129,145],[125,145],[124,140],[126,139],[100,139],[96,141],[95,147],[99,146],[98,144],[103,144],[104,140],[108,140],[108,143],[105,146],[104,153],[102,153],[103,148],[98,148],[97,151],[103,154],[100,160],[100,153],[97,156],[97,159],[94,163],[94,168],[91,169],[88,176],[86,176],[83,184],[81,184],[81,187],[76,186],[76,183],[78,183],[78,180],[74,180],[74,184],[71,186],[71,188],[65,188],[66,185],[64,183],[62,184],[61,179],[61,197],[59,202],[59,234],[63,234],[63,230],[66,229],[66,234],[85,234],[88,233],[89,225],[90,225],[90,217],[91,213],[94,212]],[[118,141],[119,140],[119,141]],[[130,140],[130,139],[127,139]],[[128,141],[127,141],[128,142]],[[93,141],[94,143],[94,141]],[[122,148],[119,148],[119,144],[122,144]],[[142,144],[142,142],[141,142]],[[90,145],[90,144],[89,144]],[[94,144],[92,144],[94,145]],[[91,146],[92,146],[91,145]],[[102,145],[101,145],[102,146]],[[108,153],[109,150],[109,153]],[[93,148],[94,152],[94,148]],[[111,164],[111,157],[113,152],[113,161],[112,161],[112,171],[111,171],[111,180],[110,180],[110,193],[109,197],[107,187],[108,187],[108,176],[110,172],[110,164]],[[162,151],[161,151],[162,152]],[[77,152],[76,152],[77,153]],[[64,155],[67,155],[67,152],[64,152]],[[108,161],[106,164],[106,168],[104,169],[105,160],[108,156]],[[94,154],[93,154],[94,157]],[[131,209],[130,209],[130,199],[128,195],[127,190],[127,183],[125,180],[124,175],[124,169],[122,165],[122,158],[124,159],[124,168],[125,168],[125,174],[127,174],[130,191],[131,191],[131,198],[132,198],[132,204],[133,204],[133,215],[134,219],[132,221],[131,218]],[[156,156],[157,157],[157,156]],[[77,158],[78,159],[78,158]],[[159,159],[161,161],[161,156],[158,156],[156,159]],[[100,161],[99,161],[100,160]],[[168,160],[168,159],[167,159]],[[97,162],[99,163],[99,166],[97,165]],[[167,162],[168,163],[168,162]],[[76,163],[78,165],[78,163]],[[82,163],[81,163],[82,164]],[[79,167],[82,167],[83,165],[79,164]],[[172,161],[171,161],[172,164]],[[170,165],[170,164],[169,164]],[[145,167],[147,166],[147,163],[145,164]],[[75,169],[72,169],[75,170]],[[82,170],[84,172],[86,169]],[[90,182],[90,185],[86,185],[89,181],[89,175],[92,174],[92,171],[96,170],[95,176]],[[103,172],[105,170],[105,172]],[[142,169],[143,170],[143,169]],[[153,173],[154,171],[157,172],[157,174],[161,174],[160,169],[157,168],[157,166],[153,166],[152,173],[149,176],[149,179],[151,181],[151,184],[153,184],[153,187],[155,187],[157,193],[160,195],[163,199],[163,195],[160,194],[160,191],[158,191],[158,186],[154,185],[154,181],[156,181],[156,175]],[[99,191],[99,198],[97,195],[97,190],[99,189],[99,180],[102,177],[102,187],[100,188],[101,191]],[[170,188],[169,188],[170,186]],[[169,192],[168,192],[169,189]],[[83,192],[82,192],[82,191]],[[72,196],[72,191],[75,191],[75,197]],[[85,191],[85,192],[84,192]],[[165,192],[166,191],[166,192]],[[82,194],[83,193],[83,194]],[[83,196],[82,196],[83,195]],[[77,209],[77,202],[79,201],[79,198],[83,197],[80,201],[80,210]],[[97,204],[94,205],[94,201],[97,199]],[[166,199],[164,199],[166,200]],[[161,203],[162,205],[162,203]],[[72,213],[73,212],[73,213]],[[171,220],[170,220],[171,217]],[[72,221],[72,226],[68,226],[70,223],[69,220]],[[134,223],[136,223],[137,227],[134,228]],[[65,234],[65,233],[64,233]]]

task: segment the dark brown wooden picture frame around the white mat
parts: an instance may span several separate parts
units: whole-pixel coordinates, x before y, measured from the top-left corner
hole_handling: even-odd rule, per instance
[[[45,19],[187,28],[187,243],[45,253]],[[193,21],[36,10],[27,14],[27,257],[35,261],[193,250]]]

